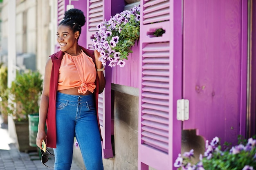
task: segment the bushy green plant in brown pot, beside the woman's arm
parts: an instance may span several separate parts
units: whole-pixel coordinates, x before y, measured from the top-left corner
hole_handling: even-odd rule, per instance
[[[43,79],[38,71],[17,73],[9,88],[9,110],[16,126],[20,151],[35,150],[29,146],[28,116],[39,112],[39,97],[43,90]]]

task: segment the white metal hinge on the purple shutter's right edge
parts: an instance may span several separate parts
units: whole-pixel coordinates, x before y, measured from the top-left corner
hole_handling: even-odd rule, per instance
[[[188,120],[189,119],[189,100],[178,99],[177,100],[177,120]]]

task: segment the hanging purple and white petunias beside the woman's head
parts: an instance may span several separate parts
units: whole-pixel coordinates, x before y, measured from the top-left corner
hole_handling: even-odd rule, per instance
[[[117,13],[110,20],[97,25],[98,31],[92,38],[93,48],[101,54],[99,60],[104,66],[125,65],[131,46],[139,40],[140,5]]]

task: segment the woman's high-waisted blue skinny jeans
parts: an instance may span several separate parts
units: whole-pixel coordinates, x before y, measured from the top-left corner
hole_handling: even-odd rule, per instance
[[[103,170],[101,138],[94,95],[56,96],[57,145],[54,170],[70,170],[74,137],[79,144],[86,170]]]

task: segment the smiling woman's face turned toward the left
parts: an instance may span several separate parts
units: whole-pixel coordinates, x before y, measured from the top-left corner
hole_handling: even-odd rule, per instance
[[[58,26],[57,41],[60,44],[61,51],[68,53],[68,51],[72,50],[72,47],[75,47],[74,45],[77,44],[78,36],[79,31],[74,33],[69,26]]]

